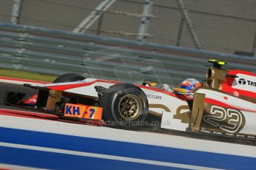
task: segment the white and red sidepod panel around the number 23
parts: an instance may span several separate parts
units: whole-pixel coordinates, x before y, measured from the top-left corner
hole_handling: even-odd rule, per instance
[[[206,100],[210,99],[212,101],[211,115],[203,116],[205,122],[213,126],[219,126],[221,130],[229,133],[237,133],[237,130],[242,128],[239,131],[241,134],[255,134],[255,103],[211,89],[198,89],[197,93],[205,94]],[[221,125],[220,122],[226,119],[230,119],[228,124]]]

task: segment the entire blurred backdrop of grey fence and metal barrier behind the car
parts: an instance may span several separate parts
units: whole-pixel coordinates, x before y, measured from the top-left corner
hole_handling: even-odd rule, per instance
[[[0,3],[1,76],[53,81],[73,72],[179,84],[205,81],[209,58],[256,72],[255,0]]]

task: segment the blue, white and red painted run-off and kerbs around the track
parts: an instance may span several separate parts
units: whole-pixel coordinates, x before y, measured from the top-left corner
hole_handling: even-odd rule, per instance
[[[26,90],[22,84],[29,82],[0,77],[1,100],[5,91]],[[45,113],[0,106],[0,169],[255,167],[256,146],[252,143],[90,126]]]

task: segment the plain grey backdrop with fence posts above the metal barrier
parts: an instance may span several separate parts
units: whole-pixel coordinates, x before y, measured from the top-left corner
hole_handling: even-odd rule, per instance
[[[19,16],[15,2],[0,0],[0,21],[255,55],[255,0],[23,0]],[[98,18],[82,30],[93,12]]]

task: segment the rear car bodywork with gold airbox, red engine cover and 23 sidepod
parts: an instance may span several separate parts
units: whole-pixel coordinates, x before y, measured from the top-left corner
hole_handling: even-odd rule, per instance
[[[256,75],[215,66],[206,77],[206,86],[194,92],[189,129],[255,139]]]

